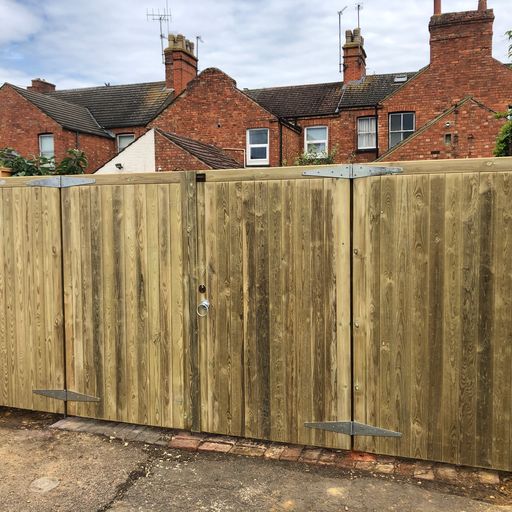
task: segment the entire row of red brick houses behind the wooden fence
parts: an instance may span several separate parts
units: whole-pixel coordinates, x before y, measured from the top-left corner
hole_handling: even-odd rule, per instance
[[[170,35],[165,82],[71,91],[5,84],[0,147],[33,154],[50,145],[60,158],[78,146],[101,172],[133,168],[149,138],[116,154],[152,128],[146,160],[156,171],[216,168],[198,163],[206,147],[229,167],[291,165],[309,152],[334,153],[337,163],[489,157],[504,122],[496,113],[512,105],[512,69],[492,57],[493,21],[486,0],[444,14],[434,0],[430,62],[420,71],[367,75],[355,29],[346,32],[343,81],[253,90],[219,69],[197,75],[194,45]]]

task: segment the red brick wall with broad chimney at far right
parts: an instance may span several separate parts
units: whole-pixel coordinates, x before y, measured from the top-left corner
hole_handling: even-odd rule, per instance
[[[389,147],[388,115],[391,112],[416,112],[418,130],[468,96],[496,112],[506,111],[512,103],[512,70],[494,60],[491,54],[492,12],[446,14],[440,18],[446,23],[441,20],[431,24],[430,66],[383,102],[379,113],[381,153]],[[492,124],[498,129],[497,123]],[[463,118],[458,122],[458,129],[459,140],[474,131],[470,124],[464,125]],[[487,147],[477,150],[480,156],[492,156],[497,134],[498,131],[488,132]],[[436,148],[432,146],[431,150]],[[469,156],[462,153],[462,147],[459,152],[460,158]]]

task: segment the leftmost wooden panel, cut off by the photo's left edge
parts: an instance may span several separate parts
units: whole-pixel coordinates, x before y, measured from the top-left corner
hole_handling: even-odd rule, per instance
[[[0,188],[0,405],[64,412],[33,393],[64,386],[58,189]]]

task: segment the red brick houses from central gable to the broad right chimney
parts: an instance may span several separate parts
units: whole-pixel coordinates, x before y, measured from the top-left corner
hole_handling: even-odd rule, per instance
[[[490,157],[504,122],[496,113],[512,105],[512,69],[492,57],[493,21],[485,0],[445,14],[435,0],[430,63],[418,72],[366,75],[360,29],[346,32],[344,82],[240,90],[207,69],[150,125],[247,166],[289,165],[311,150],[335,150],[339,163]]]

